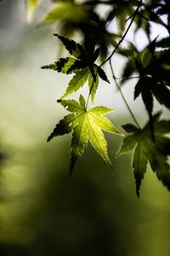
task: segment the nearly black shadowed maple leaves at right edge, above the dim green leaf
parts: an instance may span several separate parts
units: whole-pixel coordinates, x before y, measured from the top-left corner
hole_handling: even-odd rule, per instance
[[[139,73],[139,80],[134,90],[134,100],[139,95],[142,96],[150,119],[154,107],[153,96],[160,104],[170,108],[170,90],[168,89],[170,86],[170,48],[158,51],[156,44],[163,48],[165,39],[158,43],[156,39],[153,40],[140,52],[131,44],[127,50],[128,61],[122,71],[122,77],[126,79],[133,73]],[[122,80],[122,84],[124,81]]]

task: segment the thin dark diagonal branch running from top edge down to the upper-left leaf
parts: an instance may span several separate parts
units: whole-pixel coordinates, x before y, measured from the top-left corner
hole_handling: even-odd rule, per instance
[[[133,13],[133,15],[132,15],[132,20],[130,21],[129,25],[127,26],[127,30],[126,30],[126,32],[124,32],[124,35],[122,36],[121,40],[116,44],[116,47],[115,47],[115,49],[112,51],[111,55],[110,55],[105,61],[103,61],[103,62],[100,64],[99,67],[103,66],[107,61],[110,61],[110,60],[111,60],[111,57],[115,54],[116,50],[119,48],[119,45],[122,44],[124,38],[125,38],[126,35],[127,35],[127,32],[129,31],[130,27],[133,25],[133,20],[135,19],[136,15],[137,15],[138,12],[139,12],[139,8],[140,8],[140,6],[141,6],[141,4],[142,4],[142,1],[143,1],[143,0],[140,0],[137,9],[134,11],[134,13]]]

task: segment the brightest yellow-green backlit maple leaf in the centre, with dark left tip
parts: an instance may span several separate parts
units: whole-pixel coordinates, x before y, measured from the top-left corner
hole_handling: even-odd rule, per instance
[[[102,130],[122,136],[105,113],[112,111],[111,108],[103,106],[87,109],[82,95],[79,102],[75,100],[59,100],[70,114],[61,119],[55,126],[54,131],[48,137],[48,141],[54,137],[72,133],[71,140],[71,172],[76,161],[82,156],[84,149],[88,146],[88,140],[94,149],[101,155],[105,162],[112,167],[111,160],[107,153],[107,142]]]

